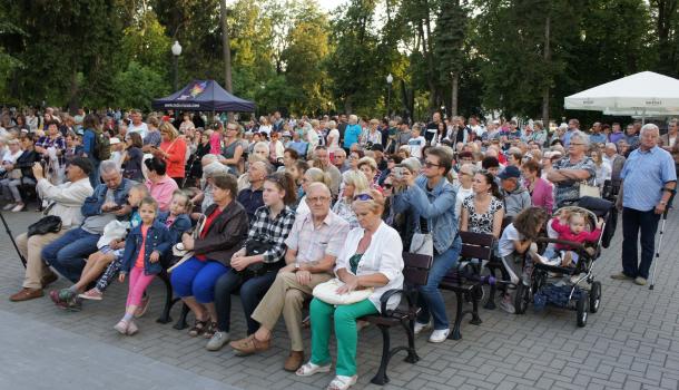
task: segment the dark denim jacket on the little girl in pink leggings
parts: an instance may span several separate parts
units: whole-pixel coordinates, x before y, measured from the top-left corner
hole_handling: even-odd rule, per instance
[[[129,273],[134,263],[137,261],[137,256],[139,256],[142,242],[144,237],[141,236],[141,224],[139,224],[139,226],[129,232],[127,238],[125,240],[125,254],[122,255],[122,267],[120,269],[120,272],[126,274]],[[154,221],[154,224],[149,226],[146,234],[146,243],[144,246],[145,275],[155,275],[163,271],[160,259],[167,255],[173,244],[173,236],[167,227],[165,227],[165,225],[157,220]],[[160,259],[157,262],[151,263],[149,257],[154,251],[158,251],[160,253]]]

